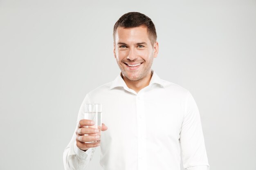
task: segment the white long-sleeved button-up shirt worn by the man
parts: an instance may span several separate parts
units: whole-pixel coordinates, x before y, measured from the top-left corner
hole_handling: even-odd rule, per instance
[[[84,105],[102,104],[100,165],[103,170],[209,170],[200,115],[191,93],[160,79],[153,72],[150,84],[138,93],[121,77],[85,96]],[[180,144],[179,144],[180,143]],[[181,146],[181,148],[180,148]],[[65,148],[65,170],[84,170],[95,148],[86,152],[76,146],[76,134]]]

